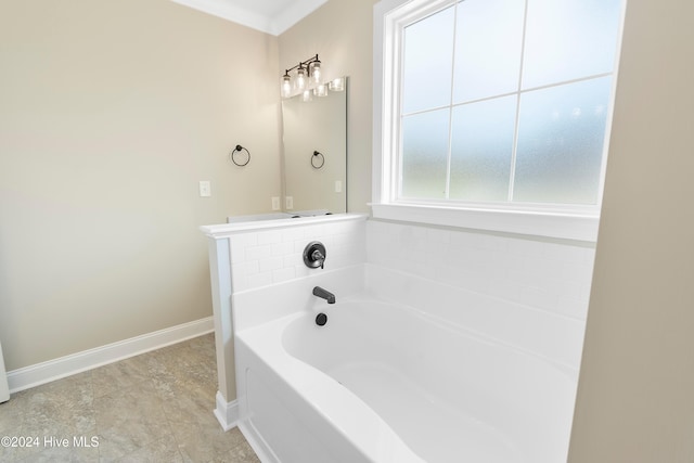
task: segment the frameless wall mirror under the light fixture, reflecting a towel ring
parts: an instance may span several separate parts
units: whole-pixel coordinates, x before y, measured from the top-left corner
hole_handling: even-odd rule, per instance
[[[347,211],[347,80],[327,97],[282,102],[285,213]]]

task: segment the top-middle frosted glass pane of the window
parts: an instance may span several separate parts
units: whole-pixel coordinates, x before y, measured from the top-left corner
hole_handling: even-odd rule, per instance
[[[518,89],[524,10],[524,0],[459,3],[453,103]]]

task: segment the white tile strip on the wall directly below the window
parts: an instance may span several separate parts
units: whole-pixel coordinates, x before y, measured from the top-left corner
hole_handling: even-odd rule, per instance
[[[369,261],[586,321],[594,243],[369,220]]]

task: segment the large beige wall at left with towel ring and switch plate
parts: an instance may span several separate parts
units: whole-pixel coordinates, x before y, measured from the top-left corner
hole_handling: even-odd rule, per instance
[[[280,195],[277,37],[168,0],[2,1],[0,66],[8,369],[211,316],[197,227]]]

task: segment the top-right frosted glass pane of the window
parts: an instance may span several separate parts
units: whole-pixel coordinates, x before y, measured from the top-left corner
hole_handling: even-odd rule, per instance
[[[620,0],[528,0],[523,88],[611,73],[620,12]]]

